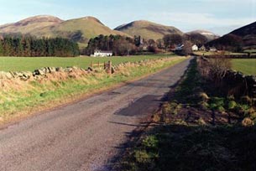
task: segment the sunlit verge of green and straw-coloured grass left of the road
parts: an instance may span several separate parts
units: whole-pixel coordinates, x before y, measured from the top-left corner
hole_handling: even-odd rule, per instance
[[[175,57],[165,60],[147,60],[140,63],[118,65],[114,75],[104,70],[64,80],[27,81],[20,85],[13,83],[13,89],[0,91],[0,122],[6,123],[13,118],[26,117],[36,111],[59,106],[130,80],[141,78],[176,65],[185,58]],[[48,75],[50,77],[50,75]],[[76,76],[76,75],[75,75]]]

